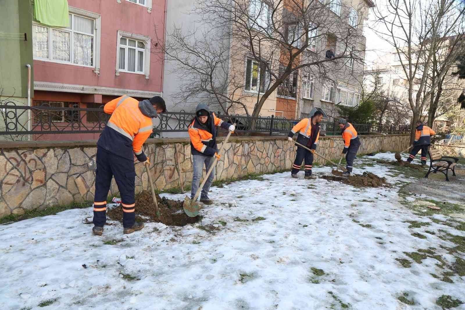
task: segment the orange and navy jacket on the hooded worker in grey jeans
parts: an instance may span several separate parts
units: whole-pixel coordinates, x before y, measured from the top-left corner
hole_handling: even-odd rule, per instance
[[[221,126],[228,129],[231,124],[219,119],[215,113],[210,112],[210,131],[203,129],[197,117],[189,125],[189,137],[191,138],[191,153],[193,155],[213,156],[216,149],[216,129],[215,126]]]

